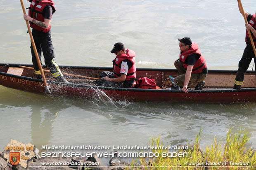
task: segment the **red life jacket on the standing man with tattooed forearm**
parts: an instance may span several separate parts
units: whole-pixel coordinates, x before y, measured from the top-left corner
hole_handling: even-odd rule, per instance
[[[56,11],[54,4],[55,3],[52,0],[42,0],[40,2],[33,0],[30,4],[30,7],[28,8],[28,16],[30,16],[33,19],[36,19],[37,21],[44,22],[45,19],[43,17],[43,9],[47,5],[51,5],[52,6],[52,14],[53,14]],[[42,28],[32,22],[29,22],[29,24],[32,28],[39,30],[39,31],[43,31],[44,33],[49,32],[51,29],[51,25],[47,29],[45,29],[45,28]]]

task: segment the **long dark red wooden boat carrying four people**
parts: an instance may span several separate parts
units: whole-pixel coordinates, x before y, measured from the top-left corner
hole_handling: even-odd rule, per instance
[[[27,64],[9,64],[0,63],[0,85],[9,88],[19,89],[32,93],[45,94],[43,81],[36,79],[34,71],[27,68],[20,68],[20,65],[33,67]],[[59,66],[62,72],[98,77],[100,72],[112,68],[105,67],[80,67],[80,66]],[[139,88],[112,88],[95,86],[91,83],[93,80],[85,80],[82,77],[64,75],[70,84],[56,82],[54,79],[48,79],[50,86],[50,95],[73,96],[76,98],[93,99],[98,91],[104,92],[114,101],[146,101],[146,102],[209,102],[209,103],[242,103],[256,102],[255,72],[248,71],[245,75],[243,88],[240,90],[232,89],[237,71],[231,70],[209,70],[205,79],[203,90],[194,90],[189,93],[181,90],[168,89],[139,89]],[[173,77],[178,75],[175,69],[154,69],[137,68],[137,78],[152,77],[156,80],[157,86],[162,85],[169,75]],[[46,77],[51,77],[49,72],[45,72]]]

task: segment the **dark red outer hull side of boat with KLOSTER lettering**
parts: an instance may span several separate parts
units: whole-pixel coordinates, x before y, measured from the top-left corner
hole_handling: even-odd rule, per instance
[[[133,102],[204,102],[204,103],[243,103],[256,102],[256,88],[242,90],[155,90],[136,88],[111,88],[83,84],[65,84],[47,81],[51,95],[72,96],[75,98],[97,98],[104,92],[112,100]],[[10,75],[0,72],[0,85],[32,93],[45,93],[43,81],[30,77]]]

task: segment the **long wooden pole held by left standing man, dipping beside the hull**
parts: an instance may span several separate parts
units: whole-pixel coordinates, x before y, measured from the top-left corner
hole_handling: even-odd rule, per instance
[[[21,7],[22,7],[22,10],[23,10],[23,13],[26,14],[26,10],[25,10],[25,7],[24,7],[24,4],[23,4],[23,0],[20,0],[21,1]],[[37,53],[37,50],[36,50],[36,44],[34,42],[34,39],[33,39],[33,36],[32,36],[32,33],[31,33],[31,30],[29,28],[29,23],[28,21],[26,20],[26,24],[27,24],[27,27],[28,27],[28,32],[29,32],[29,35],[30,35],[30,39],[31,39],[31,44],[33,46],[33,49],[34,49],[34,53],[36,55],[36,61],[37,61],[37,64],[38,64],[38,67],[41,71],[41,74],[43,76],[43,84],[45,85],[45,91],[50,93],[50,90],[49,90],[49,87],[47,85],[47,82],[46,82],[46,79],[45,79],[45,74],[43,72],[43,68],[42,68],[42,65],[41,65],[41,62],[40,62],[40,59],[39,59],[39,56],[38,56],[38,53]]]

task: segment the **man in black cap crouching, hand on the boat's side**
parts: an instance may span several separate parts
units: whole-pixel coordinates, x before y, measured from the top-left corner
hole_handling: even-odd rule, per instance
[[[178,38],[180,44],[180,58],[175,61],[174,65],[179,72],[179,76],[175,77],[174,82],[181,89],[188,93],[187,87],[196,86],[196,90],[201,90],[204,86],[204,79],[208,70],[204,56],[199,50],[196,43],[192,43],[190,37]]]

